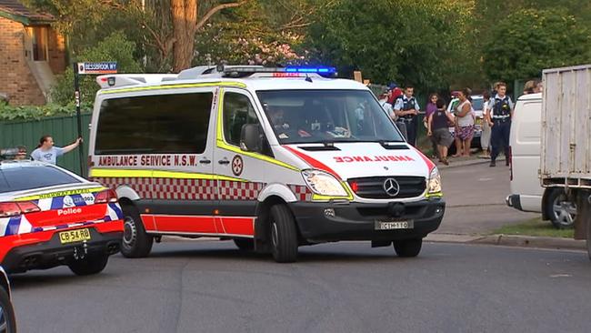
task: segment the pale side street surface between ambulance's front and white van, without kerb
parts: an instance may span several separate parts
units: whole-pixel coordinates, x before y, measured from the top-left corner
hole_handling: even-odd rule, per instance
[[[540,217],[506,206],[510,171],[502,162],[496,167],[484,163],[442,168],[441,177],[447,206],[439,233],[486,234],[506,224]]]

